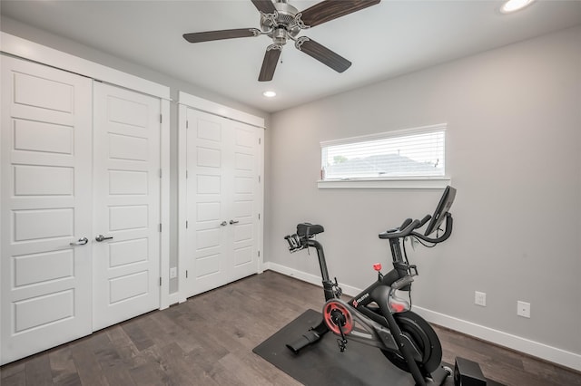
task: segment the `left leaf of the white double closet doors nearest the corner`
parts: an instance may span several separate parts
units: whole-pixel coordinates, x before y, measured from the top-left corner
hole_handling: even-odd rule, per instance
[[[228,283],[227,127],[221,117],[187,111],[188,295]]]

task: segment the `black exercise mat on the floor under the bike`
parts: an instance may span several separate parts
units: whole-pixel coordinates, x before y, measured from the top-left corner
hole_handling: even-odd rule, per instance
[[[307,386],[415,384],[411,374],[391,364],[377,348],[350,341],[345,352],[340,352],[333,333],[327,333],[319,343],[303,348],[299,354],[286,347],[320,321],[320,312],[307,310],[252,351]],[[494,381],[487,384],[500,385]],[[448,377],[444,385],[453,386],[453,378]]]

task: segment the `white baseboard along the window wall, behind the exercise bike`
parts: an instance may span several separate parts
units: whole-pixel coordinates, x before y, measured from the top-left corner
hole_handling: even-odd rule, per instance
[[[263,268],[264,270],[271,269],[272,271],[278,272],[282,275],[296,277],[299,280],[313,285],[322,286],[320,282],[320,276],[318,275],[310,275],[288,266],[271,262],[264,263]],[[343,288],[345,294],[355,295],[362,291],[361,289],[350,285],[343,285],[340,283],[340,286]],[[466,333],[478,339],[507,347],[510,350],[524,352],[542,360],[554,362],[561,366],[576,370],[577,372],[581,372],[581,355],[575,352],[567,352],[544,343],[531,341],[527,338],[513,335],[511,333],[504,333],[484,325],[467,322],[454,316],[440,314],[426,308],[414,306],[413,310],[415,313],[426,319],[429,323],[438,324],[442,327],[449,328],[450,330],[458,331],[459,333]]]

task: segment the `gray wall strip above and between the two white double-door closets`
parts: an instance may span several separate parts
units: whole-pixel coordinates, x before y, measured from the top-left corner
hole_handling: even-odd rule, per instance
[[[170,95],[173,101],[178,100],[178,92],[188,92],[200,98],[207,99],[209,101],[214,101],[216,103],[221,103],[223,105],[229,106],[233,109],[240,111],[245,111],[253,115],[262,117],[268,124],[270,114],[264,111],[259,111],[251,108],[250,106],[244,105],[237,101],[232,101],[229,98],[223,97],[222,95],[210,92],[203,88],[197,87],[191,83],[183,82],[178,79],[174,79],[162,72],[156,72],[152,69],[143,67],[137,63],[130,63],[124,61],[123,59],[117,58],[107,53],[95,50],[86,45],[76,43],[70,39],[66,39],[61,36],[46,33],[42,30],[34,28],[33,26],[22,24],[13,19],[2,16],[0,19],[0,29],[7,34],[13,34],[15,36],[21,37],[23,39],[29,40],[34,43],[40,43],[44,46],[54,48],[55,50],[62,51],[64,53],[70,53],[80,58],[92,61],[94,63],[100,63],[105,66],[111,67],[113,69],[131,73],[133,75],[139,76],[143,79],[147,79],[152,82],[158,82],[164,86],[170,87]],[[176,103],[171,103],[170,106],[170,146],[171,146],[171,241],[170,241],[170,266],[178,265],[177,258],[177,211],[178,211],[178,108]],[[268,136],[268,135],[267,135]],[[265,138],[265,144],[268,144],[268,138]],[[172,280],[170,283],[170,292],[173,293],[177,291],[177,280]]]

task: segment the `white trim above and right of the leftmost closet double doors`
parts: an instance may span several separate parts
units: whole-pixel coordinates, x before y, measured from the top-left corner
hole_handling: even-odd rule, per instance
[[[170,291],[170,88],[132,74],[121,72],[99,63],[34,43],[12,34],[0,32],[0,52],[15,55],[36,63],[49,65],[64,71],[74,72],[94,80],[108,82],[136,92],[160,98],[162,107],[161,147],[161,210],[162,239],[160,272],[162,274],[160,309],[175,303],[176,294]],[[0,315],[1,316],[1,315]]]

